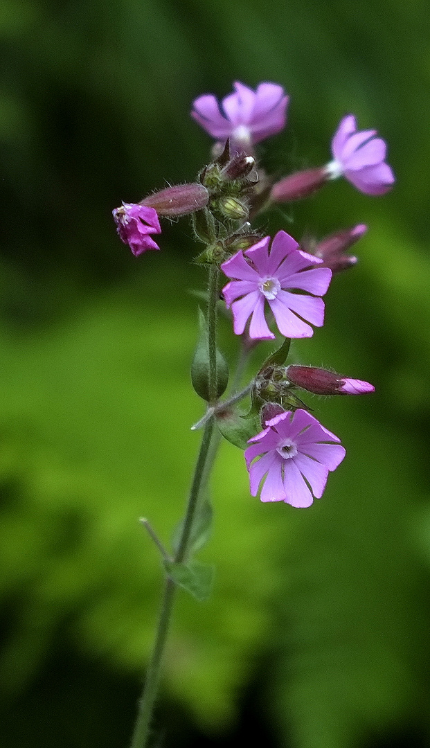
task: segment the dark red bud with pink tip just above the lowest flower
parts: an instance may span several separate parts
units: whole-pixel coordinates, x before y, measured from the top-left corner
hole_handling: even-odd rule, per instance
[[[365,395],[375,392],[373,384],[360,379],[349,379],[326,369],[286,367],[286,378],[292,383],[316,395]]]

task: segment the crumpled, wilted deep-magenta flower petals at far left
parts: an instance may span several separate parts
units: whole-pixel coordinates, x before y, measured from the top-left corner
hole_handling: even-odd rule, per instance
[[[123,203],[120,208],[112,211],[112,215],[120,239],[129,245],[135,257],[147,249],[159,249],[159,245],[149,236],[152,233],[162,233],[155,209],[137,203]]]

